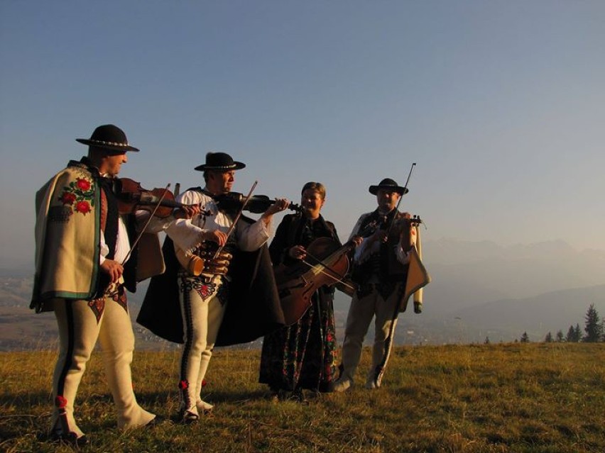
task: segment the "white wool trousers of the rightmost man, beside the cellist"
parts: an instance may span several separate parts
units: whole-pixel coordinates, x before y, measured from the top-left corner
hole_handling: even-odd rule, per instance
[[[361,298],[357,296],[357,293],[354,294],[351,299],[351,306],[347,315],[347,325],[344,330],[344,342],[342,342],[343,371],[339,379],[348,379],[351,383],[354,381],[364,338],[366,337],[372,318],[376,316],[376,320],[374,321],[375,333],[374,345],[372,347],[372,366],[366,376],[366,382],[374,380],[376,367],[381,364],[384,357],[384,343],[388,336],[388,330],[391,328],[391,323],[397,323],[397,319],[393,321],[393,311],[399,297],[398,286],[396,286],[386,300],[383,299],[376,288]],[[386,363],[384,365],[386,367]]]

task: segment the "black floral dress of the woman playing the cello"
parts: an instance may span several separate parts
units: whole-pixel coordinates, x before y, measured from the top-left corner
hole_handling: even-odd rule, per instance
[[[285,216],[269,246],[273,265],[298,262],[288,256],[294,245],[307,247],[317,237],[331,237],[340,244],[331,222],[300,214]],[[303,388],[329,392],[336,372],[334,287],[322,286],[297,323],[264,337],[259,382],[272,391]]]

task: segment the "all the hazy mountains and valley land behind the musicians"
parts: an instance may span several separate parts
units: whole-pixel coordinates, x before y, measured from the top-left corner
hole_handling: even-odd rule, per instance
[[[516,340],[527,332],[541,341],[547,332],[584,328],[591,303],[605,316],[605,251],[582,250],[549,241],[502,247],[494,242],[425,241],[423,261],[432,277],[423,313],[399,315],[396,343],[456,343]],[[0,350],[29,347],[54,338],[53,315],[33,315],[31,267],[0,267]],[[129,294],[134,313],[146,282]],[[350,298],[337,291],[334,310],[342,341]],[[136,325],[138,347],[158,347]],[[373,335],[371,332],[369,337]],[[48,337],[48,338],[47,338]],[[154,346],[155,345],[155,346]],[[163,347],[168,347],[163,345]]]

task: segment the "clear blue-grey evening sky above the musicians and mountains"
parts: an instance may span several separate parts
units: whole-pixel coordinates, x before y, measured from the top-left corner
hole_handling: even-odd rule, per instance
[[[0,0],[0,266],[106,123],[146,189],[200,185],[209,151],[236,191],[320,181],[342,240],[415,162],[425,241],[605,250],[604,48],[601,0]]]

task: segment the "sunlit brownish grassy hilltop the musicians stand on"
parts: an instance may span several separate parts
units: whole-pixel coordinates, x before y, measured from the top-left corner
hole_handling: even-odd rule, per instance
[[[603,452],[605,346],[529,343],[398,347],[383,387],[356,386],[308,403],[272,401],[257,384],[258,350],[221,349],[197,425],[170,420],[121,432],[99,353],[82,385],[77,418],[90,452]],[[55,352],[3,352],[0,451],[55,452],[44,437]],[[364,382],[369,350],[357,380]],[[136,352],[142,406],[178,408],[178,352]]]

